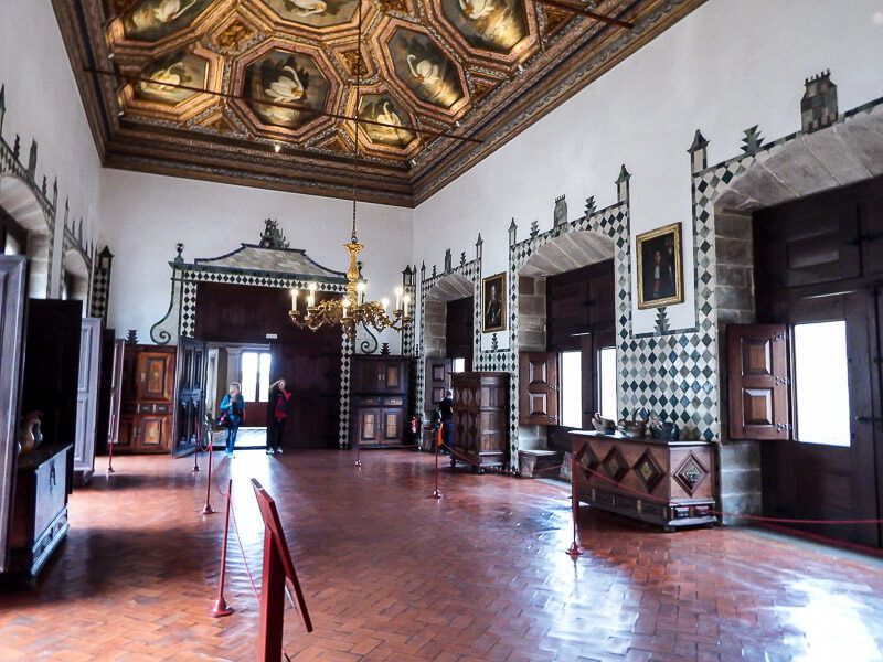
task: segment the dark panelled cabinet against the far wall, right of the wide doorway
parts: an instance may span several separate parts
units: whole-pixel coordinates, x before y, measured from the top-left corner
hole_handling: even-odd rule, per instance
[[[354,442],[383,448],[408,441],[408,361],[402,356],[353,356]]]

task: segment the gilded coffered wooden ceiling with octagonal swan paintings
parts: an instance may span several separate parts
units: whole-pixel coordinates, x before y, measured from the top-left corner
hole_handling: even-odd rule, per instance
[[[53,3],[106,166],[411,206],[703,1]]]

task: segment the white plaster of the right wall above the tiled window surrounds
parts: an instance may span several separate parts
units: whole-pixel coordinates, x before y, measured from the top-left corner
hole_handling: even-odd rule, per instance
[[[415,260],[430,270],[445,248],[471,256],[480,232],[483,275],[503,271],[511,218],[522,239],[534,220],[541,232],[552,226],[558,195],[566,194],[570,220],[582,216],[591,195],[599,209],[613,204],[625,163],[632,255],[635,234],[683,224],[687,301],[668,310],[672,329],[692,327],[687,149],[694,131],[711,141],[709,162],[716,163],[740,152],[753,125],[769,139],[799,130],[804,79],[822,70],[831,70],[841,111],[883,96],[881,62],[881,0],[709,0],[419,205]],[[632,288],[634,280],[632,264]],[[655,317],[634,310],[635,332],[652,331]]]

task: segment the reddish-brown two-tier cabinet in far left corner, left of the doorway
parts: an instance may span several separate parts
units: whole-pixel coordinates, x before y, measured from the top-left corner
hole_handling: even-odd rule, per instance
[[[126,345],[117,452],[171,452],[175,348]]]

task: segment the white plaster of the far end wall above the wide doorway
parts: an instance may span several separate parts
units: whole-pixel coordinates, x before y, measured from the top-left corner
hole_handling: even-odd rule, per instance
[[[352,203],[345,200],[248,189],[213,182],[105,170],[102,244],[115,255],[108,325],[124,337],[136,329],[150,342],[150,327],[169,305],[169,260],[174,245],[184,258],[224,255],[243,242],[256,244],[265,218],[276,218],[292,248],[304,248],[320,265],[345,270]],[[359,204],[359,241],[368,296],[393,299],[409,264],[412,210]],[[386,332],[393,353],[398,333]]]

